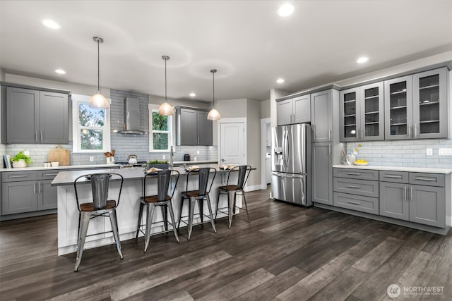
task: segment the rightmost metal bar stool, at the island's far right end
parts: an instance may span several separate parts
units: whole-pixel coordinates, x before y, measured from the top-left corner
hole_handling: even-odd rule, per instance
[[[230,185],[229,184],[229,178],[232,171],[239,171],[239,176],[237,177],[237,185]],[[218,188],[218,195],[217,195],[217,209],[215,211],[215,219],[217,219],[218,211],[221,213],[227,214],[227,219],[229,221],[229,228],[231,228],[232,224],[232,216],[235,214],[235,209],[242,209],[246,211],[246,216],[248,217],[248,222],[251,223],[251,220],[249,219],[248,214],[248,206],[246,205],[246,199],[245,199],[245,192],[243,190],[246,180],[248,180],[249,173],[251,172],[251,166],[249,165],[241,165],[241,166],[235,166],[234,168],[230,169],[230,171],[227,173],[227,182],[226,186],[220,186]],[[234,192],[234,202],[231,204],[231,197],[230,195]],[[221,211],[221,209],[224,208],[218,208],[218,204],[220,203],[220,195],[227,195],[227,212]],[[237,207],[235,204],[235,200],[237,199],[237,195],[242,195],[243,202],[245,204],[245,208]]]

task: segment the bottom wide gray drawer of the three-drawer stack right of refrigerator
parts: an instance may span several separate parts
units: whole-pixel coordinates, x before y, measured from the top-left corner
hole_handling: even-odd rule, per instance
[[[362,195],[334,192],[333,206],[371,214],[379,214],[378,197],[363,197]]]

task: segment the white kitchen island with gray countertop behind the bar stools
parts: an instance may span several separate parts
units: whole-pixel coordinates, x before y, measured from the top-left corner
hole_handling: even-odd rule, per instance
[[[218,168],[218,166],[212,166]],[[176,190],[172,201],[174,209],[174,216],[179,216],[180,194],[186,189],[186,174],[184,168],[176,167],[175,170],[181,174],[177,183]],[[76,202],[76,195],[73,187],[73,182],[78,178],[90,173],[119,173],[124,177],[124,184],[121,191],[121,198],[119,199],[119,206],[117,207],[117,219],[119,236],[121,241],[135,238],[136,226],[138,223],[138,209],[140,204],[140,197],[143,194],[143,168],[120,168],[120,169],[108,169],[108,170],[88,170],[88,171],[61,171],[57,177],[52,181],[52,186],[57,186],[58,194],[58,254],[68,254],[76,252],[77,244],[77,231],[78,231],[78,209]],[[231,183],[237,183],[237,174],[232,173],[230,181]],[[197,176],[190,176],[189,190],[196,190],[198,181]],[[210,202],[212,209],[216,209],[216,197],[218,193],[218,186],[225,185],[227,180],[227,171],[217,171],[212,190],[210,191]],[[81,180],[82,181],[82,180]],[[83,182],[83,181],[82,181]],[[85,183],[78,184],[78,197],[81,203],[92,202],[91,186],[88,180]],[[146,193],[148,195],[157,194],[157,177],[154,176],[151,180],[147,180]],[[109,198],[117,199],[119,194],[120,181],[112,178],[109,188]],[[174,187],[174,181],[170,183],[170,190]],[[237,197],[237,204],[241,203],[241,199]],[[227,207],[226,197],[220,198],[219,207]],[[197,207],[196,207],[197,208]],[[197,209],[196,209],[197,210]],[[195,211],[196,213],[197,211]],[[184,206],[182,216],[188,214],[188,206]],[[204,214],[208,214],[206,206],[204,206]],[[226,216],[221,212],[218,212],[218,217]],[[155,211],[153,219],[157,222],[153,225],[152,233],[159,233],[164,230],[162,222],[162,213],[160,210]],[[145,221],[145,217],[143,217]],[[194,219],[194,223],[197,223],[199,219]],[[206,219],[205,219],[206,221]],[[184,225],[184,223],[182,223]],[[181,225],[181,226],[182,226]],[[87,236],[85,242],[85,248],[99,247],[102,245],[109,245],[114,243],[112,233],[105,233],[111,231],[109,219],[93,219],[90,221],[88,228],[88,235],[95,233],[102,233],[93,236]],[[184,231],[181,231],[182,239],[184,239]],[[140,235],[142,235],[140,233]],[[152,238],[151,238],[152,243]]]

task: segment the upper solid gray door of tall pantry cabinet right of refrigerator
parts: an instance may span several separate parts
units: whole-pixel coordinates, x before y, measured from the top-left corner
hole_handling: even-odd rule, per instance
[[[311,94],[311,141],[331,142],[333,140],[332,90]]]

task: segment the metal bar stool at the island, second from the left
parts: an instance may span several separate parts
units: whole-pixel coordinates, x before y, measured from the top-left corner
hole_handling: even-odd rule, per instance
[[[172,175],[177,175],[176,181],[174,182],[174,188],[172,189],[171,196],[168,195],[169,182]],[[136,226],[136,238],[138,238],[138,233],[143,233],[141,231],[141,217],[143,216],[143,207],[146,206],[146,231],[143,233],[145,235],[144,252],[148,250],[149,240],[150,240],[150,228],[153,224],[154,208],[160,206],[162,208],[162,215],[165,223],[165,232],[167,228],[167,209],[169,209],[169,216],[171,217],[171,226],[174,231],[174,236],[177,242],[179,242],[179,236],[177,236],[176,221],[174,221],[174,213],[172,211],[171,200],[176,190],[177,181],[179,180],[179,171],[175,170],[164,170],[157,171],[157,195],[146,195],[146,179],[149,176],[155,176],[155,173],[147,173],[143,180],[143,197],[140,198],[140,211],[138,213],[138,226]]]

